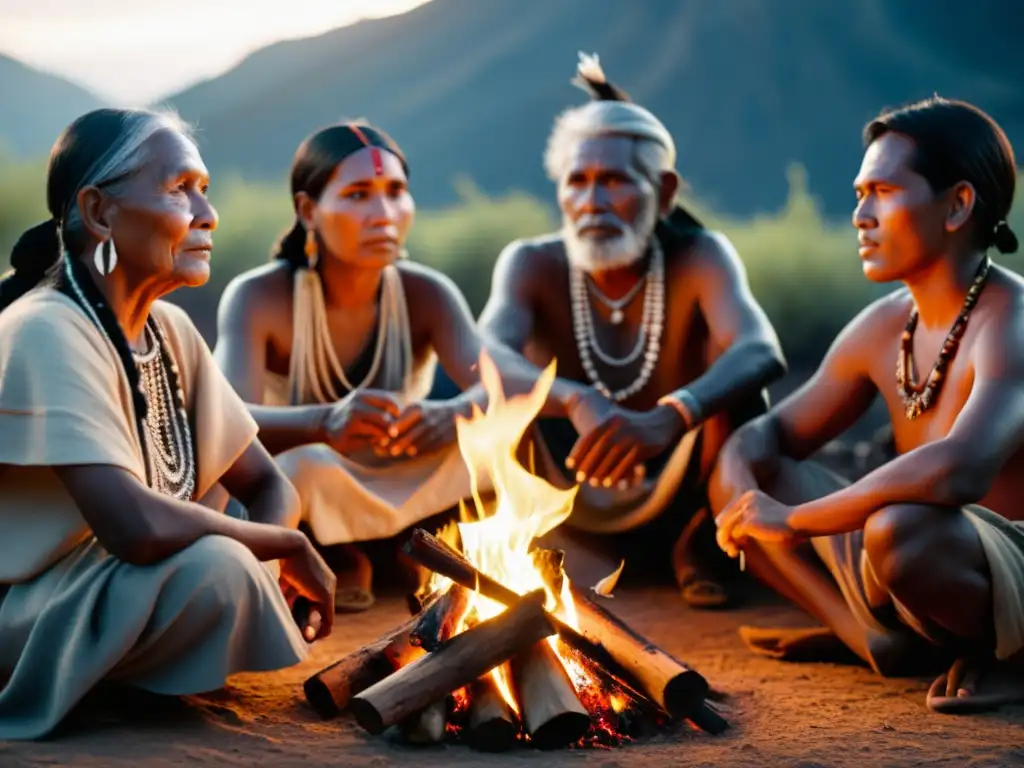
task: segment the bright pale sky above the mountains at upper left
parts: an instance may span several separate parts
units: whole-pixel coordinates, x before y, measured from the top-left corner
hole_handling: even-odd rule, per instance
[[[0,52],[123,105],[230,69],[252,50],[427,0],[0,0]]]

